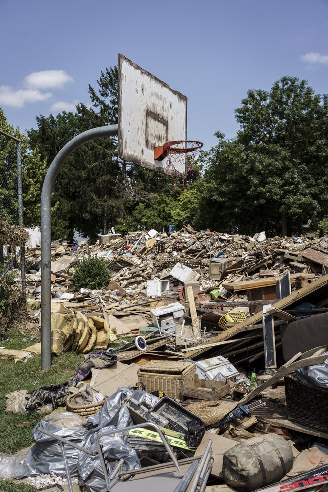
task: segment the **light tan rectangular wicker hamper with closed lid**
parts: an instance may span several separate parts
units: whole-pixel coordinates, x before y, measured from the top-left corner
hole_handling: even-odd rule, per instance
[[[164,391],[166,396],[180,398],[180,388],[193,381],[196,366],[192,362],[152,360],[138,369],[138,379],[146,391]]]

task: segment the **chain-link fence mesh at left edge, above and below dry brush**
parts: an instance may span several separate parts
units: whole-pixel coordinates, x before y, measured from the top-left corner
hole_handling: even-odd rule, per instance
[[[0,219],[6,220],[10,225],[23,227],[23,201],[22,201],[22,167],[21,167],[21,141],[12,135],[0,130]],[[0,245],[0,263],[4,263],[4,250]],[[8,253],[9,251],[5,251]],[[25,289],[25,248],[10,251],[20,257],[20,270],[22,277],[22,289]],[[15,258],[14,258],[15,259]],[[7,266],[7,271],[14,264]]]

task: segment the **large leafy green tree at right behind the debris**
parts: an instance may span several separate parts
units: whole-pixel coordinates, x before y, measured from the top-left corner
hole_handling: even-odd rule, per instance
[[[328,200],[328,99],[307,81],[283,77],[270,91],[249,90],[236,109],[237,137],[203,154],[203,199],[212,227],[254,234],[300,232]],[[208,208],[205,207],[208,214]]]

